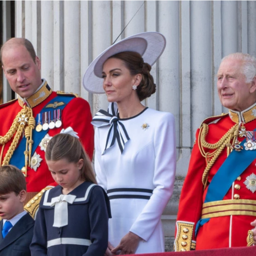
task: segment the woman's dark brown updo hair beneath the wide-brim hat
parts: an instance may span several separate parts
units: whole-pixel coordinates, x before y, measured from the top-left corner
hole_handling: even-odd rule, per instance
[[[141,55],[137,52],[119,52],[110,58],[117,58],[125,63],[125,67],[130,70],[132,76],[141,74],[142,79],[137,86],[137,94],[142,101],[150,97],[156,92],[156,85],[154,84],[153,76],[150,74],[151,66],[145,63]]]

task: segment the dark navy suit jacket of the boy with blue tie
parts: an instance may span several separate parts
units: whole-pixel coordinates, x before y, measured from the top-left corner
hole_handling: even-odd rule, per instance
[[[3,220],[0,221],[0,256],[31,256],[31,244],[35,221],[27,213],[12,227],[3,239]]]

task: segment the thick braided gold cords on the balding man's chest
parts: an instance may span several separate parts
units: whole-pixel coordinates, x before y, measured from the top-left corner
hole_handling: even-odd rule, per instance
[[[26,137],[26,150],[25,154],[25,166],[21,169],[23,174],[26,177],[27,166],[30,165],[31,153],[32,153],[32,130],[35,128],[35,118],[33,117],[33,112],[31,108],[28,108],[26,105],[23,109],[17,114],[15,117],[11,128],[4,136],[0,136],[0,144],[2,146],[1,154],[0,154],[0,166],[8,165],[11,157],[17,147],[17,144],[20,141],[20,137],[24,131],[24,135]],[[16,132],[16,134],[15,134]],[[15,136],[14,136],[15,134]],[[12,144],[10,145],[4,159],[3,159],[3,150],[5,144],[12,139]],[[3,163],[2,163],[3,159]]]

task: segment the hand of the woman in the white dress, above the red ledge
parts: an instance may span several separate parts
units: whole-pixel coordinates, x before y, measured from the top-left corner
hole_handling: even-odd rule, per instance
[[[120,243],[116,246],[116,248],[113,248],[113,250],[111,250],[111,253],[115,254],[120,251],[119,255],[134,254],[137,250],[140,240],[142,240],[140,236],[137,236],[136,234],[129,231],[121,239]]]

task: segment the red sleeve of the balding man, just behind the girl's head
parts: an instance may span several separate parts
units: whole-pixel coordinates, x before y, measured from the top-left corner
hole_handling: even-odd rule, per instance
[[[62,112],[62,128],[70,126],[78,133],[90,159],[93,158],[94,149],[94,130],[91,121],[90,105],[82,98],[72,99]]]

